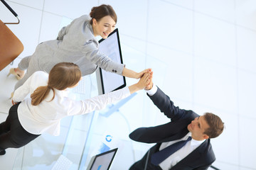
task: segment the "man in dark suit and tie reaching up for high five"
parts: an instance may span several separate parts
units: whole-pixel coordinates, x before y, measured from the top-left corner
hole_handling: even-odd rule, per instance
[[[215,161],[210,138],[223,132],[224,123],[213,113],[199,116],[174,106],[169,96],[153,85],[146,87],[151,101],[170,123],[150,128],[138,128],[129,137],[137,142],[157,143],[130,170],[190,170],[208,169]]]

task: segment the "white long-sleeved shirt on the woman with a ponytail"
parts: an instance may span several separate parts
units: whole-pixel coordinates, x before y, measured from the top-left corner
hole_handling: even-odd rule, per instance
[[[31,98],[28,94],[38,86],[47,86],[48,74],[45,72],[35,72],[27,81],[14,91],[14,102],[21,102],[18,106],[18,120],[22,127],[35,135],[48,132],[50,135],[60,134],[60,119],[68,115],[82,115],[95,110],[105,108],[107,104],[114,103],[130,95],[128,87],[118,91],[95,96],[84,101],[75,101],[68,98],[68,90],[59,91],[55,89],[53,101],[53,91],[50,90],[48,96],[38,105],[32,106]]]

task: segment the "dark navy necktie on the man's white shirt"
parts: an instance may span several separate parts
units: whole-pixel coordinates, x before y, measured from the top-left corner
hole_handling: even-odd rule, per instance
[[[178,149],[181,149],[181,147],[185,146],[186,142],[188,142],[190,140],[191,140],[191,137],[188,137],[187,140],[181,140],[179,142],[174,143],[173,145],[170,145],[169,147],[161,149],[161,151],[159,151],[159,152],[152,154],[151,163],[154,165],[159,165],[166,158],[170,157],[171,154],[176,152]]]

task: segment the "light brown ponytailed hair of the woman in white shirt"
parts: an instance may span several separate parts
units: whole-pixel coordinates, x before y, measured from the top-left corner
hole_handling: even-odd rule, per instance
[[[50,89],[53,90],[53,98],[55,97],[55,91],[57,90],[65,90],[68,87],[75,86],[78,84],[81,78],[81,71],[77,64],[73,64],[71,62],[60,62],[55,64],[53,69],[50,70],[48,85],[47,86],[39,86],[33,94],[31,94],[32,105],[38,106],[49,94]],[[53,101],[53,98],[51,101]]]

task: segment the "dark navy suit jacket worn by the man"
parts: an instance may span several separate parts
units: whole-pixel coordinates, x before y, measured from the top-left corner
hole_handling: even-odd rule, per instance
[[[186,111],[174,106],[169,96],[166,96],[159,88],[156,94],[149,96],[149,98],[151,98],[164,115],[171,118],[171,122],[155,127],[134,130],[129,137],[137,142],[161,143],[181,139],[181,137],[184,137],[188,133],[188,124],[199,116],[193,111]],[[187,157],[173,166],[171,170],[208,169],[214,161],[215,155],[210,145],[210,139],[208,139],[191,152],[191,154],[188,154]]]

